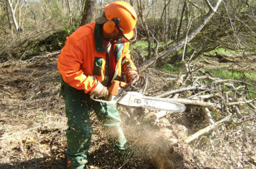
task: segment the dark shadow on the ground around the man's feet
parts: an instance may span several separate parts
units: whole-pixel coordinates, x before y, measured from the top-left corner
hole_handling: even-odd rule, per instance
[[[60,152],[64,155],[64,152]],[[8,164],[0,163],[1,169],[67,169],[67,158],[34,158],[27,161],[11,162]],[[89,162],[87,168],[145,168],[149,169],[152,165],[148,160],[142,159],[141,156],[134,155],[132,158],[120,159],[116,152],[107,144],[103,144],[98,149],[88,154]]]

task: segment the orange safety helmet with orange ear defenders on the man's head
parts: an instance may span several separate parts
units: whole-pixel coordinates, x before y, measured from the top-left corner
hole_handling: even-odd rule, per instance
[[[106,33],[118,31],[128,41],[134,41],[136,32],[137,14],[128,2],[116,1],[105,5],[104,14],[96,19],[96,23],[102,24]]]

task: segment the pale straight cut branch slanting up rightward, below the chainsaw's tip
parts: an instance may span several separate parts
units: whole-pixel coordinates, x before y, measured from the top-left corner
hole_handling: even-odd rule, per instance
[[[195,140],[196,138],[198,138],[199,136],[211,131],[211,129],[216,128],[217,126],[219,126],[220,124],[222,124],[223,122],[226,122],[229,120],[229,118],[231,117],[231,114],[229,114],[228,116],[226,116],[225,118],[217,121],[216,123],[207,126],[204,129],[199,130],[198,132],[196,132],[195,134],[190,135],[189,137],[185,137],[183,138],[183,141],[185,141],[186,143],[190,143],[191,141]]]

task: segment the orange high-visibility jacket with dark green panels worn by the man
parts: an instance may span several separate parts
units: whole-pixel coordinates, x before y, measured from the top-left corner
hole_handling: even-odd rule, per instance
[[[67,38],[58,57],[58,72],[64,82],[78,90],[90,93],[98,81],[109,85],[121,75],[136,70],[131,61],[130,43],[114,44],[115,72],[113,79],[108,78],[109,53],[102,47],[101,25],[95,22],[81,26]]]

